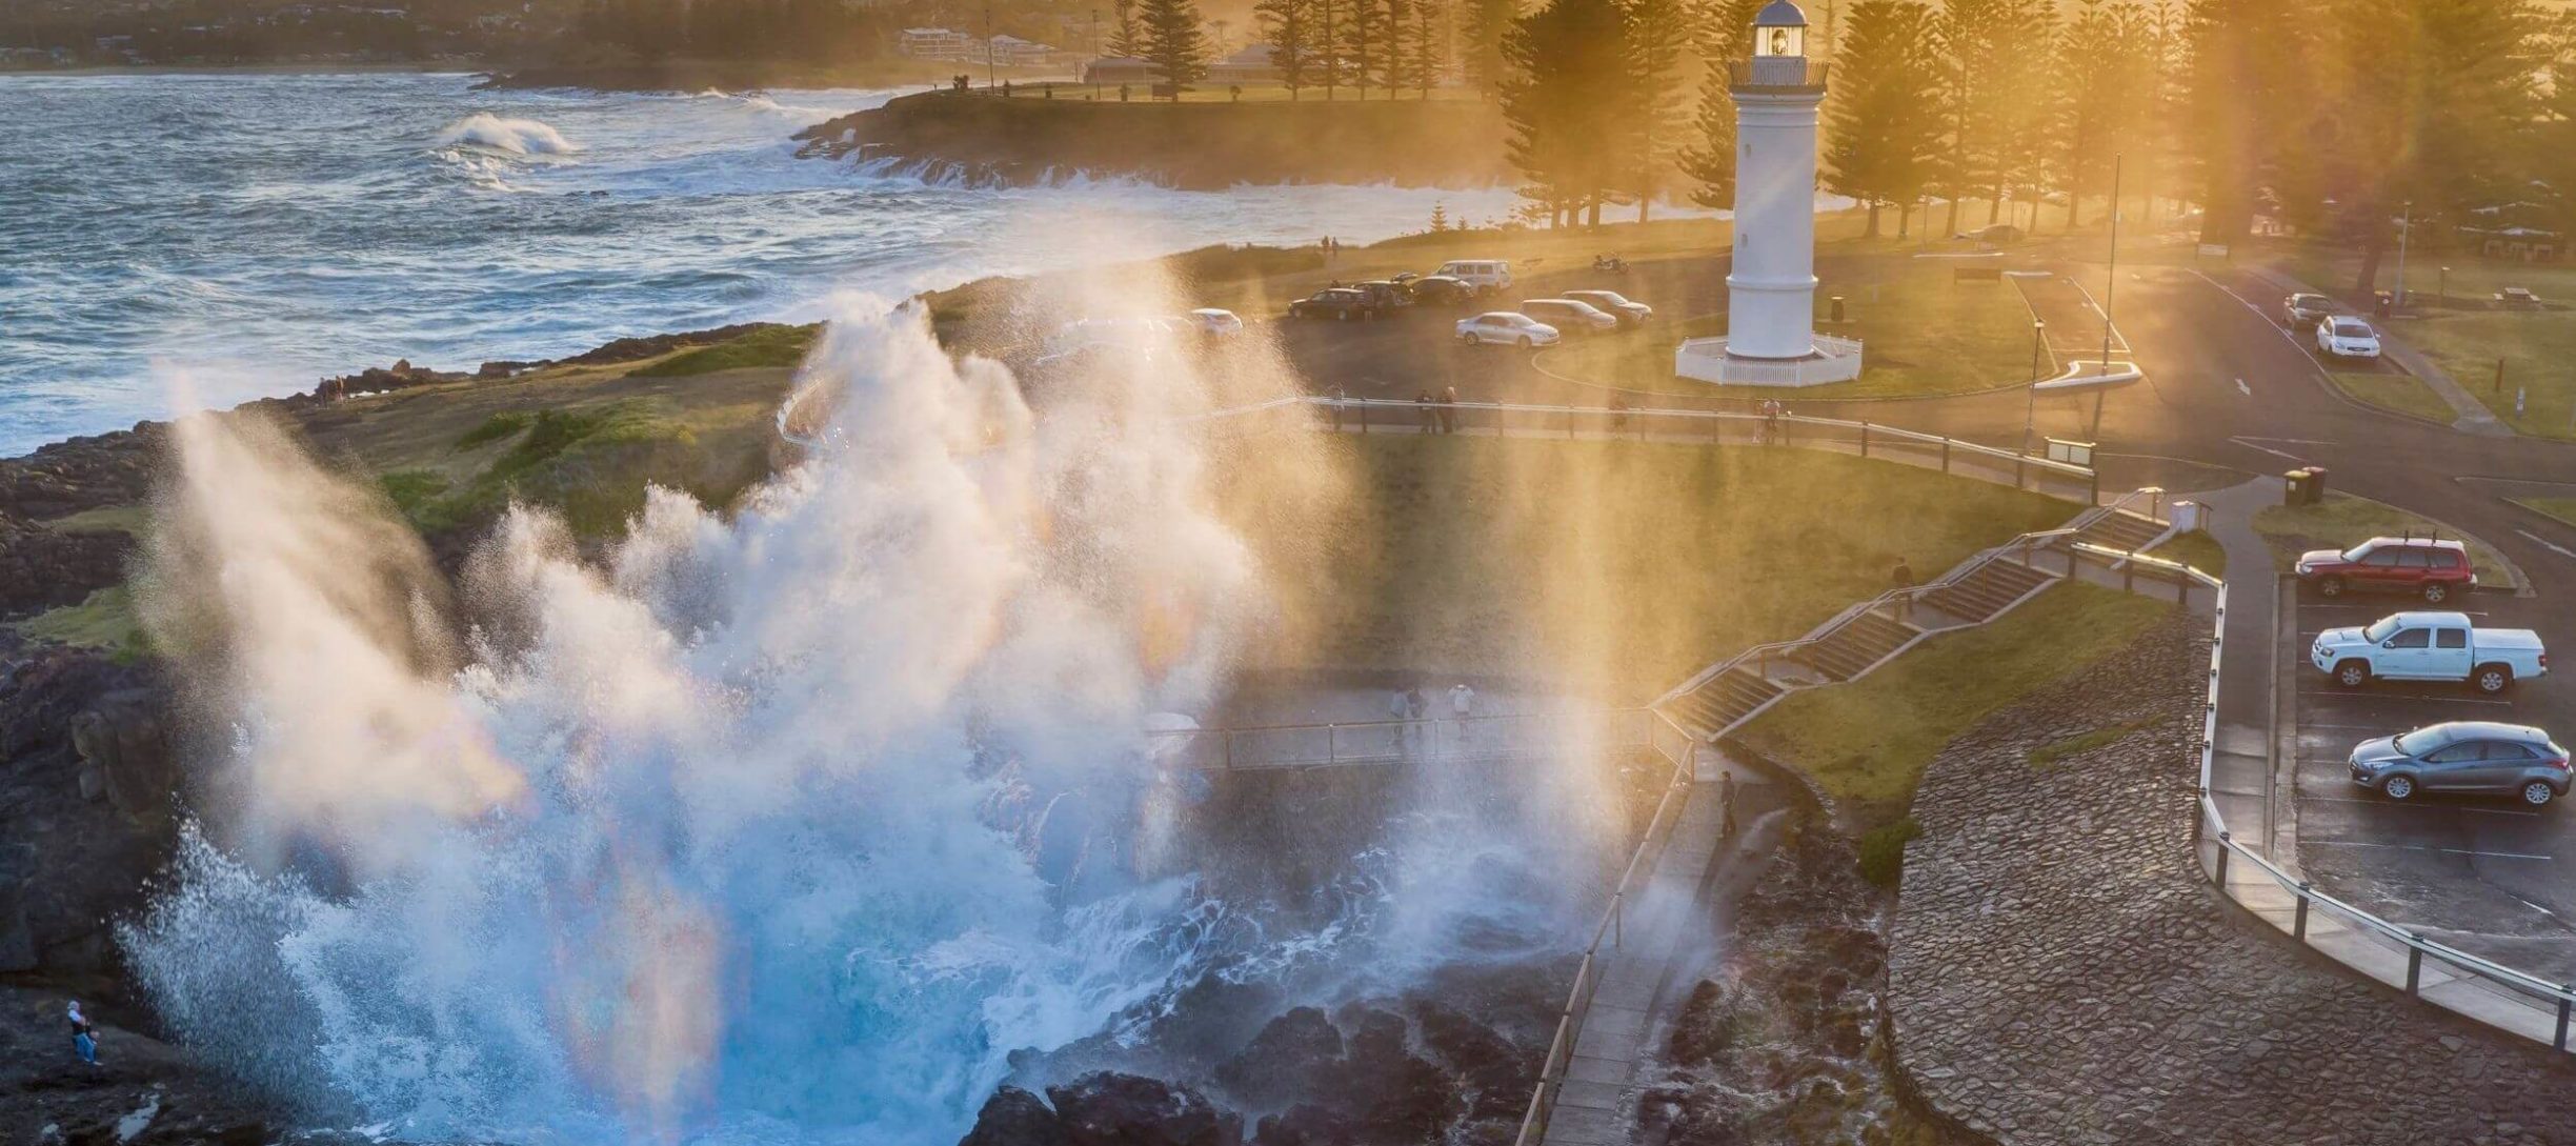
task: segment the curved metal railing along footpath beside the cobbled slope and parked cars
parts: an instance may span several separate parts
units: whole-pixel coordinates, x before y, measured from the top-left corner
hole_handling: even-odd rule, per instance
[[[2218,675],[2226,662],[2226,644],[2228,644],[2228,585],[2223,579],[2202,574],[2200,569],[2182,567],[2182,572],[2197,579],[2200,585],[2218,590],[2218,621],[2213,623],[2213,636],[2210,636],[2210,680],[2200,716],[2197,822],[2192,824],[2195,827],[2192,850],[2195,860],[2200,863],[2200,873],[2208,876],[2210,886],[2215,886],[2221,896],[2249,909],[2257,919],[2264,919],[2272,927],[2282,930],[2290,937],[2290,943],[2298,943],[2300,948],[2311,948],[2326,958],[2334,958],[2336,963],[2344,963],[2347,968],[2362,976],[2380,979],[2391,986],[2401,986],[2409,997],[2427,999],[2424,961],[2434,961],[2437,966],[2455,971],[2460,976],[2455,981],[2473,981],[2473,989],[2486,991],[2496,1002],[2530,1007],[2527,1012],[2514,1012],[2514,1010],[2496,1012],[2494,1007],[2481,1004],[2486,999],[2476,1002],[2447,999],[2447,997],[2427,999],[2452,1012],[2488,1022],[2499,1030],[2509,1030],[2548,1043],[2553,1051],[2566,1053],[2568,1025],[2571,1017],[2576,1017],[2576,984],[2553,984],[2530,971],[2519,971],[2496,963],[2491,958],[2470,955],[2460,948],[2427,940],[2424,932],[2419,930],[2388,922],[2372,912],[2365,912],[2354,904],[2316,891],[2311,881],[2298,878],[2295,873],[2290,873],[2280,863],[2272,863],[2272,858],[2257,852],[2254,847],[2236,842],[2236,834],[2228,832],[2226,814],[2218,811],[2218,793],[2213,791],[2210,783],[2210,770],[2218,757]],[[2251,888],[2239,888],[2236,883],[2231,883],[2231,870],[2239,876],[2254,870],[2257,878],[2246,881],[2251,883]],[[2277,901],[2264,904],[2264,899],[2277,899]],[[2275,917],[2282,912],[2287,912],[2287,919]],[[2349,935],[2362,937],[2362,945],[2354,948],[2354,945],[2326,943],[2329,935],[2324,935],[2313,922],[2318,912],[2324,912],[2329,922],[2342,922],[2349,930]],[[2378,955],[2393,961],[2398,953],[2403,953],[2406,961],[2403,976],[2396,973],[2393,963],[2388,963],[2385,976],[2370,966],[2375,963]]]

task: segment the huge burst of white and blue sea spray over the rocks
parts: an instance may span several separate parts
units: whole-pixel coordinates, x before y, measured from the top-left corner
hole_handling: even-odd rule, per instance
[[[1005,1053],[1190,973],[1180,883],[1025,837],[1030,793],[1133,809],[1257,608],[1195,371],[1033,420],[853,301],[809,373],[824,446],[732,520],[654,494],[598,569],[513,512],[469,654],[371,497],[183,425],[149,613],[237,801],[126,932],[178,1033],[410,1138],[953,1141]]]

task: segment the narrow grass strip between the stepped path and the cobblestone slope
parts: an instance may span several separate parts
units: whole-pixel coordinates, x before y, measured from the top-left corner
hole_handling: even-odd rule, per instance
[[[1950,739],[2125,649],[2172,603],[2058,585],[1981,628],[1935,636],[1850,685],[1793,693],[1744,729],[1862,822],[1893,822]]]

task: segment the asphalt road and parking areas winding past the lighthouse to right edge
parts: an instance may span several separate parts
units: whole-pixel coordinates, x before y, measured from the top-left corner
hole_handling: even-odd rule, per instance
[[[1886,258],[1875,260],[1826,258],[1819,276],[1826,291],[1839,286],[1857,299],[1865,281],[1883,273]],[[2004,448],[2022,440],[2027,417],[2040,435],[2097,440],[2105,489],[2218,489],[2254,474],[2326,466],[2334,489],[2468,531],[2527,574],[2530,595],[2481,592],[2465,600],[2486,613],[2481,623],[2537,628],[2563,654],[2576,649],[2576,608],[2566,605],[2576,600],[2576,528],[2506,502],[2519,492],[2576,492],[2576,446],[2465,435],[2344,399],[2326,381],[2313,343],[2275,317],[2280,291],[2251,273],[2125,265],[2112,283],[2099,263],[2045,252],[2017,255],[2007,268],[2027,273],[2004,288],[2020,288],[2048,322],[2056,358],[2099,355],[2097,301],[2112,296],[2120,319],[2112,353],[2136,358],[2146,381],[2105,397],[2099,430],[2092,399],[2030,402],[2022,389],[1899,402],[1814,402],[1793,391],[1783,399],[1798,412],[1868,417]],[[1726,309],[1723,270],[1723,258],[1641,263],[1628,276],[1535,268],[1497,306],[1605,286],[1654,304],[1659,322],[1685,319]],[[1463,399],[1600,404],[1613,397],[1546,376],[1528,353],[1461,348],[1450,340],[1453,317],[1291,324],[1283,343],[1314,389],[1327,394],[1404,399],[1455,386]],[[1538,358],[1540,366],[1546,361]],[[1741,407],[1672,394],[1623,399],[1638,407]],[[2298,649],[2316,628],[2367,623],[2403,605],[2306,600]],[[2298,649],[2285,649],[2285,657]],[[2342,775],[2352,742],[2447,719],[2540,724],[2566,742],[2576,737],[2576,680],[2527,682],[2506,703],[2421,685],[2347,695],[2321,677],[2295,680],[2298,695],[2285,711],[2300,721],[2298,824],[2300,863],[2311,878],[2447,943],[2576,979],[2576,806],[2537,814],[2470,798],[2391,806]]]

